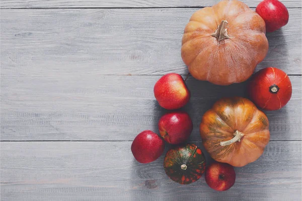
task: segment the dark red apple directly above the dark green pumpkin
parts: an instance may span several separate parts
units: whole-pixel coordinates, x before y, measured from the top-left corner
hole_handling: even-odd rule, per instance
[[[187,112],[170,112],[159,121],[160,134],[167,143],[184,143],[193,130],[192,120]]]

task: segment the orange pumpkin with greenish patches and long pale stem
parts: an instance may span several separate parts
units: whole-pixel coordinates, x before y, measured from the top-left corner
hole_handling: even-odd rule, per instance
[[[246,98],[222,98],[203,115],[200,135],[214,160],[242,167],[256,161],[268,144],[268,119]]]

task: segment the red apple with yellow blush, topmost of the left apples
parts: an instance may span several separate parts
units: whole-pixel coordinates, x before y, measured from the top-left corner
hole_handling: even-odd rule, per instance
[[[176,73],[160,78],[154,86],[154,95],[160,106],[169,110],[183,107],[191,96],[184,79]]]

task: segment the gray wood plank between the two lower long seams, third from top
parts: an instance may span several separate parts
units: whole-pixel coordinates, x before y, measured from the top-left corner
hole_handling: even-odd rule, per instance
[[[53,68],[56,68],[53,66]],[[1,78],[1,140],[133,140],[142,130],[158,132],[161,108],[153,87],[161,76],[101,76],[57,72]],[[301,140],[301,76],[290,76],[292,98],[266,112],[271,140]],[[191,140],[200,141],[203,113],[219,98],[245,96],[246,83],[217,86],[187,80],[191,100],[183,108],[194,123]]]

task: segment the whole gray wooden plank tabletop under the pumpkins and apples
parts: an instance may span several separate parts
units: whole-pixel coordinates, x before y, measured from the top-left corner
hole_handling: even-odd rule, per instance
[[[166,176],[164,156],[139,164],[131,154],[134,137],[158,132],[166,112],[156,81],[188,73],[180,48],[190,16],[216,2],[2,0],[1,200],[301,200],[300,0],[283,1],[289,22],[267,34],[257,66],[285,71],[292,98],[266,112],[271,140],[256,162],[236,168],[230,190],[214,191],[203,177],[180,185]],[[246,83],[187,84],[190,141],[201,146],[203,113],[223,96],[246,96]]]

